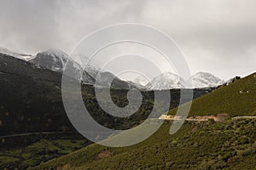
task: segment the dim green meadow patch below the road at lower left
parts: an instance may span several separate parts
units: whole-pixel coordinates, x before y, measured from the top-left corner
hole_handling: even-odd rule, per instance
[[[49,159],[53,159],[57,156],[63,156],[78,148],[82,148],[83,142],[83,140],[42,139],[37,143],[30,144],[24,148],[4,150],[0,154],[0,167],[15,169],[15,167],[26,168],[29,166],[35,166],[40,164],[42,161],[48,161]]]

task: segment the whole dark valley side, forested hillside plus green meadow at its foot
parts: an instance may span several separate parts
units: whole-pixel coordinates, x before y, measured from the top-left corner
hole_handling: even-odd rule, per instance
[[[0,54],[0,168],[34,167],[90,144],[69,122],[61,99],[61,72]],[[198,88],[194,98],[215,88]],[[126,88],[112,88],[116,105],[127,104]],[[179,89],[170,108],[179,104]],[[113,117],[97,105],[94,87],[82,84],[84,105],[97,122],[106,127],[127,129],[145,120],[154,105],[154,91],[142,91],[143,105],[129,118]],[[74,142],[73,142],[74,141]]]

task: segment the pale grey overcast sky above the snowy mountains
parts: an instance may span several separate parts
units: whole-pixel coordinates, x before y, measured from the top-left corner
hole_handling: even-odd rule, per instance
[[[192,74],[208,71],[228,79],[256,71],[255,7],[255,0],[1,0],[0,46],[70,54],[91,31],[135,22],[172,37]]]

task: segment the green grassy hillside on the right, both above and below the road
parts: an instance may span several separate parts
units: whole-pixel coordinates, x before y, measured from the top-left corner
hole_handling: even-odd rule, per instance
[[[190,114],[256,115],[255,85],[256,74],[253,74],[230,86],[218,88],[195,99]],[[169,124],[160,127],[141,144],[125,148],[91,144],[35,169],[63,166],[67,169],[252,169],[256,166],[256,161],[253,161],[256,157],[255,121],[186,122],[174,135],[168,134],[169,127]],[[106,150],[111,156],[99,159],[99,154]]]

